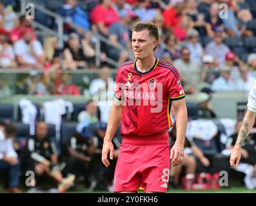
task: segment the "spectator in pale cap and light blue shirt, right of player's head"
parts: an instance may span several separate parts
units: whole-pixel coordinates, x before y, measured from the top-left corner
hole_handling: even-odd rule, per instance
[[[188,44],[186,44],[186,47],[188,50],[190,50],[191,58],[197,60],[199,64],[202,63],[202,57],[204,55],[204,49],[202,48],[202,45],[198,42],[199,33],[197,30],[192,29],[188,31]]]

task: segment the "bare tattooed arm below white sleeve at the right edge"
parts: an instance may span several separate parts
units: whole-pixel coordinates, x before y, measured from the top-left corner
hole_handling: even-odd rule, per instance
[[[244,121],[242,122],[239,135],[237,136],[237,142],[235,143],[232,154],[230,156],[230,165],[234,169],[236,169],[237,165],[239,165],[241,159],[241,147],[247,136],[250,134],[251,127],[253,127],[253,124],[255,122],[255,117],[256,113],[248,109],[244,117]]]

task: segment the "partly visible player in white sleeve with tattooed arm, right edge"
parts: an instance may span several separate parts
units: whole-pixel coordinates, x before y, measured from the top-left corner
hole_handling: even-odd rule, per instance
[[[233,147],[232,154],[230,156],[230,165],[234,169],[237,169],[241,159],[241,147],[246,140],[247,136],[250,134],[251,128],[255,122],[256,117],[256,84],[250,90],[250,94],[248,97],[247,111],[242,122],[242,126],[239,130],[239,134],[237,136],[237,142],[235,142],[235,146]]]

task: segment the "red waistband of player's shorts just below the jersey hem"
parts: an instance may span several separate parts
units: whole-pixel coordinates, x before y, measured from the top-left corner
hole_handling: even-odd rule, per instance
[[[130,145],[170,145],[168,131],[144,136],[124,136],[122,144]]]

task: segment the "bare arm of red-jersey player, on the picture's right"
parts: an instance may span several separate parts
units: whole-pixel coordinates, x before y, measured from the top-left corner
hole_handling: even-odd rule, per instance
[[[175,100],[172,104],[176,113],[177,137],[175,144],[171,149],[170,159],[172,160],[172,166],[177,166],[182,163],[184,158],[184,142],[186,136],[186,127],[188,124],[188,113],[184,98],[181,100]]]

